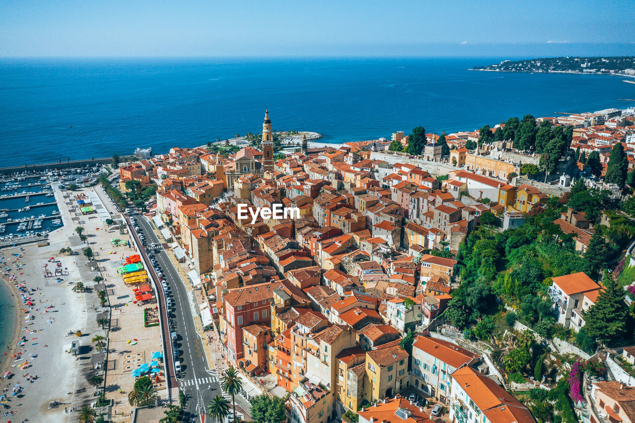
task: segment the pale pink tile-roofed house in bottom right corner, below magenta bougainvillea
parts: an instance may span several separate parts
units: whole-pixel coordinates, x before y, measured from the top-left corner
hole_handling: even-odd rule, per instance
[[[635,387],[620,382],[595,382],[591,384],[591,396],[601,417],[608,416],[615,423],[635,422]]]

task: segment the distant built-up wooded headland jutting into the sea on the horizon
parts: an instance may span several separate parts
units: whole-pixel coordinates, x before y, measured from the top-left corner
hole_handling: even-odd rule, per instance
[[[515,62],[504,60],[499,64],[476,66],[470,70],[635,76],[635,57],[545,57]]]

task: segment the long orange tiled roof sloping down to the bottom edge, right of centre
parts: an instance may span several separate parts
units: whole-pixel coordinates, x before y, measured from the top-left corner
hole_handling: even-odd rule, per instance
[[[535,423],[526,406],[486,375],[464,366],[452,377],[491,423]]]

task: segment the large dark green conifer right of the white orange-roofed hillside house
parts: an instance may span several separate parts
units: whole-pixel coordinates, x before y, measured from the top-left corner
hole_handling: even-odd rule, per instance
[[[584,332],[603,346],[613,346],[624,340],[629,328],[632,336],[632,326],[629,325],[624,290],[612,277],[605,278],[603,285],[595,304],[584,314]]]

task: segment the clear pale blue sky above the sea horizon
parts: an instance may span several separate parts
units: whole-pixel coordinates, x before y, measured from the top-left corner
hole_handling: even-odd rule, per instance
[[[606,0],[0,0],[0,57],[635,55]]]

